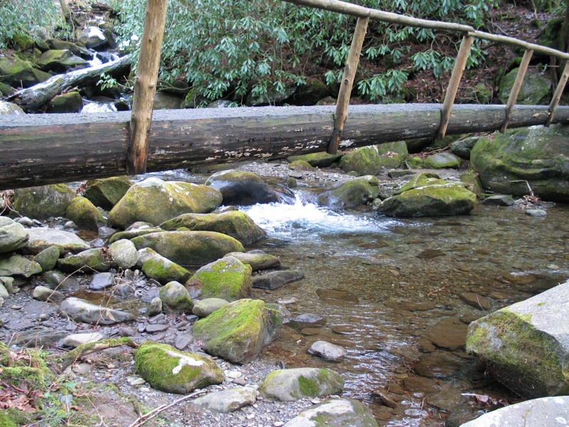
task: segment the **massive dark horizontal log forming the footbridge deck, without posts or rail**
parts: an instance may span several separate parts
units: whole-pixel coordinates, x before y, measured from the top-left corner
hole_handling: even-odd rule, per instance
[[[157,110],[147,172],[196,163],[324,152],[334,106]],[[351,105],[340,149],[434,138],[440,104]],[[499,130],[504,105],[455,105],[447,135]],[[543,125],[546,105],[518,105],[509,128]],[[0,116],[0,190],[127,174],[129,112]],[[554,122],[569,123],[569,107]]]

